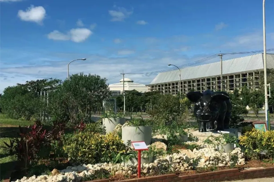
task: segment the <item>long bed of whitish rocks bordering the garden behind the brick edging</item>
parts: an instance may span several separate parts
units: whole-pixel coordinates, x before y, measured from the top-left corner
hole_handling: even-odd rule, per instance
[[[193,150],[193,153],[197,156],[196,158],[190,158],[185,153],[172,154],[162,156],[156,159],[153,163],[142,164],[142,173],[157,174],[160,171],[174,172],[174,171],[185,171],[193,169],[193,167],[211,167],[211,166],[229,166],[233,161],[231,156],[237,156],[236,165],[245,164],[243,153],[240,148],[236,148],[230,154],[216,151],[214,146],[204,145],[204,148],[200,150]],[[198,161],[197,159],[200,159]],[[96,178],[96,176],[108,173],[114,174],[137,174],[137,163],[134,165],[122,166],[121,164],[88,164],[74,167],[67,167],[58,171],[54,169],[52,175],[42,174],[41,176],[32,176],[29,179],[23,177],[21,180],[16,182],[80,182],[88,181]]]

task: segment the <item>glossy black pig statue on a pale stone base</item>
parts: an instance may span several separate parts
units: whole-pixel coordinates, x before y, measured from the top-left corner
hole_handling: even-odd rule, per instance
[[[229,129],[232,104],[226,92],[213,92],[208,89],[203,93],[189,92],[186,96],[195,103],[193,112],[200,121],[199,132],[206,132],[207,123],[209,123],[208,129],[214,129],[215,121],[216,131]]]

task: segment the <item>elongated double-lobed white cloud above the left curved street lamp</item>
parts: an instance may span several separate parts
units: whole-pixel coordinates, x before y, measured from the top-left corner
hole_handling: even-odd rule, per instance
[[[73,42],[84,42],[89,36],[92,35],[92,31],[87,28],[73,28],[66,34],[54,30],[49,33],[47,37],[52,40],[71,40]]]

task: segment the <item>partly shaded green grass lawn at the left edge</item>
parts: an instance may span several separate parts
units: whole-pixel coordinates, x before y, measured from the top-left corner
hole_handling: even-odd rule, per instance
[[[31,125],[33,122],[26,120],[10,119],[4,114],[0,114],[0,180],[5,179],[9,176],[8,171],[13,170],[14,157],[9,155],[2,146],[5,146],[4,142],[9,144],[9,138],[16,137],[19,132],[18,126]]]

